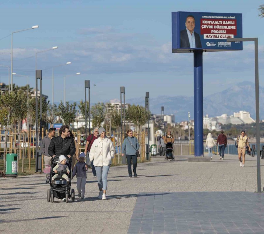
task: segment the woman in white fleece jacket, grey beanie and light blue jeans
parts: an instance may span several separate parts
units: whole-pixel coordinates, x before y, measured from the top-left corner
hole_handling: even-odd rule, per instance
[[[107,174],[114,158],[116,150],[113,142],[106,137],[104,128],[99,128],[99,136],[94,140],[89,152],[90,161],[94,160],[99,196],[98,199],[106,200]]]

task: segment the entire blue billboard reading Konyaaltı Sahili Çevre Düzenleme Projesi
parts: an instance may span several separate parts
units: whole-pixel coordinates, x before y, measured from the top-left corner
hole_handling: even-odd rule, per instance
[[[241,37],[242,14],[172,12],[172,53],[243,50],[242,42],[226,41]]]

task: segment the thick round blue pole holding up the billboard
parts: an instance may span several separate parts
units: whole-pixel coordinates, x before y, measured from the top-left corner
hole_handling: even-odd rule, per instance
[[[203,51],[194,50],[194,156],[204,156]]]

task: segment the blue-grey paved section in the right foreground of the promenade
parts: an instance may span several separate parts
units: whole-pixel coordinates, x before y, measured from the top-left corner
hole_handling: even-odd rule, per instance
[[[128,234],[264,233],[264,194],[155,192],[138,196]]]

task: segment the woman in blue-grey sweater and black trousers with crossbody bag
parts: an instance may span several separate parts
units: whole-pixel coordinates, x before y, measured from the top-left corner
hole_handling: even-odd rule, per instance
[[[127,137],[122,144],[122,156],[126,155],[128,176],[132,178],[131,161],[133,163],[134,177],[137,177],[137,150],[139,149],[139,143],[138,139],[133,137],[133,131],[131,129],[126,134]]]

